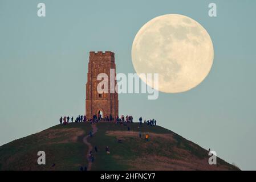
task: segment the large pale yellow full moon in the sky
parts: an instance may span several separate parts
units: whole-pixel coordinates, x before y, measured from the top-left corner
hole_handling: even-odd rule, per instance
[[[213,43],[205,28],[178,14],[150,20],[132,44],[137,75],[147,83],[141,73],[159,73],[158,89],[166,93],[185,92],[200,84],[212,68],[213,56]]]

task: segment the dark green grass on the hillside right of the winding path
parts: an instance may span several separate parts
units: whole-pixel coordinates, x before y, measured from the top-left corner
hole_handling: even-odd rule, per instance
[[[118,143],[117,137],[106,135],[106,131],[128,131],[128,126],[130,131],[141,131],[143,137],[139,138],[139,135],[137,137],[125,137],[121,143]],[[148,126],[147,124],[143,124],[142,127],[138,126],[139,123],[128,123],[127,126],[109,122],[97,123],[98,132],[89,139],[92,146],[97,146],[98,148],[98,152],[94,152],[95,161],[92,165],[92,170],[129,170],[132,168],[131,162],[134,160],[144,156],[150,158],[153,155],[185,160],[187,156],[183,156],[179,151],[173,150],[174,147],[188,151],[198,159],[209,158],[208,152],[204,148],[170,130],[160,126]],[[174,141],[161,137],[149,137],[147,142],[144,138],[146,133],[172,134]],[[110,154],[105,152],[105,146],[109,147]],[[233,166],[219,158],[218,164],[226,164],[233,168]]]

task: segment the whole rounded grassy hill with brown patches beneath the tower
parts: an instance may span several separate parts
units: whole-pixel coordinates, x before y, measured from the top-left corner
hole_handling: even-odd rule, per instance
[[[217,165],[209,165],[208,151],[170,130],[138,126],[97,123],[97,133],[88,139],[98,150],[92,170],[239,170],[220,158]],[[70,123],[7,143],[0,147],[0,170],[79,170],[88,164],[83,138],[90,131],[90,123]],[[37,164],[38,151],[46,152],[46,165]]]

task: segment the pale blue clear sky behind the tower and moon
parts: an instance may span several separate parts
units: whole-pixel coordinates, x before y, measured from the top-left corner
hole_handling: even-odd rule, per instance
[[[46,4],[46,17],[37,4]],[[208,4],[217,4],[217,17]],[[133,73],[131,46],[164,14],[197,20],[214,44],[208,77],[185,93],[120,94],[120,114],[155,118],[241,169],[256,169],[256,1],[0,0],[0,145],[84,113],[89,51],[115,52]]]

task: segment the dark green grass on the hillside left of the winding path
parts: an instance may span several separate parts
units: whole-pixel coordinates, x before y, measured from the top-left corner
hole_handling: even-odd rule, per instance
[[[86,134],[91,130],[89,123],[70,123],[57,125],[40,133],[14,140],[0,147],[1,170],[78,170],[87,165],[85,158],[88,147],[83,143],[82,136],[76,136],[76,142],[60,143],[65,139],[57,135],[50,139],[44,136],[49,130],[54,133],[58,129],[82,129]],[[59,133],[58,133],[59,134]],[[72,134],[71,134],[72,135]],[[46,152],[46,165],[38,165],[38,151]],[[51,167],[55,163],[55,167]]]

